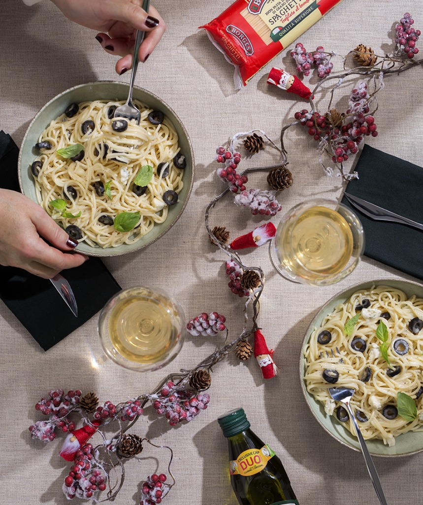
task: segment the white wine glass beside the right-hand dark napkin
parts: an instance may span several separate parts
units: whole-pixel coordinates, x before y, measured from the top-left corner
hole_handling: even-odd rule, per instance
[[[365,238],[356,214],[335,200],[315,198],[290,209],[270,245],[275,269],[288,280],[325,286],[358,265]]]

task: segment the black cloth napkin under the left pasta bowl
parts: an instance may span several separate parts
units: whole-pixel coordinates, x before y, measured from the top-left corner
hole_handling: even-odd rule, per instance
[[[19,191],[19,149],[0,131],[0,187]],[[51,282],[25,270],[0,266],[0,298],[47,350],[91,319],[120,286],[98,258],[64,270],[78,305],[75,317]],[[95,335],[93,335],[95,338]]]

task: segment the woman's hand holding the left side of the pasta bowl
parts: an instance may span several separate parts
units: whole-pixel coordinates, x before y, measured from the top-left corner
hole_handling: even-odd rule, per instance
[[[73,250],[78,242],[39,205],[17,191],[0,189],[0,222],[0,265],[50,279],[88,260],[77,252],[65,254],[63,251]]]

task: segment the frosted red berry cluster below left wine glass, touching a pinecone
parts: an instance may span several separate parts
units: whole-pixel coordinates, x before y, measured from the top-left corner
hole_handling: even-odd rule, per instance
[[[195,391],[178,390],[171,381],[151,398],[157,414],[165,416],[170,426],[176,426],[182,421],[192,421],[201,410],[207,409],[210,401],[210,395],[207,393],[196,395]]]

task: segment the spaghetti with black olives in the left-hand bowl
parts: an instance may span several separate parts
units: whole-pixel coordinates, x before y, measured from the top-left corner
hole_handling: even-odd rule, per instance
[[[184,171],[174,164],[179,148],[171,123],[164,118],[153,124],[148,118],[152,110],[134,100],[141,112],[140,125],[128,122],[125,131],[116,131],[112,116],[114,108],[123,103],[81,103],[75,115],[59,116],[39,137],[50,147],[40,149],[36,159],[42,165],[34,176],[38,203],[65,229],[78,226],[79,241],[92,246],[136,242],[155,223],[166,220],[166,191],[177,194],[184,186]],[[83,147],[81,156],[69,159],[58,152],[77,144]],[[166,164],[166,170],[158,170],[160,164]],[[149,171],[151,180],[146,179],[145,186],[134,186],[143,169]],[[66,205],[66,212],[58,212],[51,204],[54,201]],[[116,216],[123,213],[139,213],[128,231],[113,226]]]

